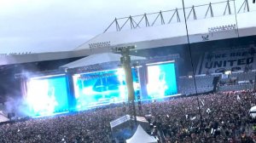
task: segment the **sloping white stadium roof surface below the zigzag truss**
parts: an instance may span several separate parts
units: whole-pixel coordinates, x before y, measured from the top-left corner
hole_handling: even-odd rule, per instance
[[[253,36],[256,33],[256,12],[237,14],[237,19],[247,21],[237,24],[239,37]],[[201,20],[189,20],[190,43],[201,43],[238,37],[235,14]],[[104,49],[106,47],[135,44],[137,49],[150,49],[188,43],[183,21],[162,26],[149,26],[134,30],[105,32],[93,37],[75,50]],[[221,28],[220,28],[221,27]],[[222,29],[227,27],[227,29]],[[216,31],[210,31],[216,28]],[[228,29],[230,28],[230,29]],[[206,39],[207,38],[207,39]]]

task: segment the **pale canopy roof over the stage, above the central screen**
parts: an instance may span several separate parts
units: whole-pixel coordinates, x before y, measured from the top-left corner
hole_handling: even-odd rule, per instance
[[[82,67],[82,66],[91,66],[96,64],[119,61],[121,56],[122,56],[121,54],[113,54],[113,53],[92,54],[83,59],[73,61],[61,67],[76,68],[76,67]],[[139,56],[131,56],[131,60],[146,60],[146,58],[139,57]]]

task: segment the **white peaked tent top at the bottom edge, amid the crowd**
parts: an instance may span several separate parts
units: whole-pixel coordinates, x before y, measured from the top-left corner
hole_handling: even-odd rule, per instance
[[[136,132],[131,136],[130,139],[126,140],[126,143],[154,143],[157,140],[146,133],[141,125],[137,126]]]

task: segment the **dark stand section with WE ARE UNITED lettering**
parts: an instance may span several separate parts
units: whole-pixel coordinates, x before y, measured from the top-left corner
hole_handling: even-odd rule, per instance
[[[198,64],[198,73],[204,74],[207,72],[219,72],[220,69],[236,71],[245,70],[245,68],[256,68],[256,50],[253,48],[242,49],[220,49],[218,51],[212,51],[205,53]]]

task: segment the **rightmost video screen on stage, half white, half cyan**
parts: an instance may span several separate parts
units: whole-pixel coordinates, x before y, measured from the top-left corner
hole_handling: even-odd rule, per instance
[[[163,98],[177,94],[176,71],[174,63],[150,65],[148,70],[148,98]]]

